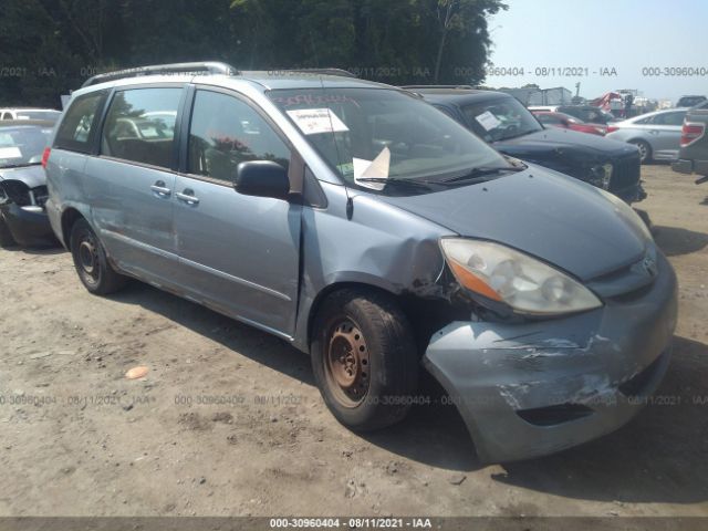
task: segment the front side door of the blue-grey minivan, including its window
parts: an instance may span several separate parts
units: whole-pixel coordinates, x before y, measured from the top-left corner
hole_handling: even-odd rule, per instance
[[[233,189],[241,162],[288,168],[289,145],[249,102],[218,90],[195,92],[188,135],[174,197],[181,283],[222,313],[291,336],[302,206]]]

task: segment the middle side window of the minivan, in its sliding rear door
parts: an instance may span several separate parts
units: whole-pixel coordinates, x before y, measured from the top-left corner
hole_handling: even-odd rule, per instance
[[[101,138],[101,154],[170,168],[183,90],[132,88],[115,93]]]

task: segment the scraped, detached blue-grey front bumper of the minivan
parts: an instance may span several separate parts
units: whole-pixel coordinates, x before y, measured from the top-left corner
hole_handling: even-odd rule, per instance
[[[455,322],[426,368],[458,407],[485,462],[552,454],[613,431],[658,387],[676,327],[676,275],[595,311],[525,324]]]

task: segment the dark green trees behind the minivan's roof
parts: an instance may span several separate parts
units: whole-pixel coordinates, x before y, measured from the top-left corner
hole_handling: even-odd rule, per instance
[[[202,60],[476,84],[487,18],[500,9],[502,0],[3,0],[0,104],[59,106],[95,73]]]

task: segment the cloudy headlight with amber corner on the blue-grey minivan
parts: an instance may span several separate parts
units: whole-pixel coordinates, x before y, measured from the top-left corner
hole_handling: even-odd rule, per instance
[[[440,247],[462,287],[507,303],[517,313],[559,315],[602,305],[566,274],[499,243],[442,238]]]

